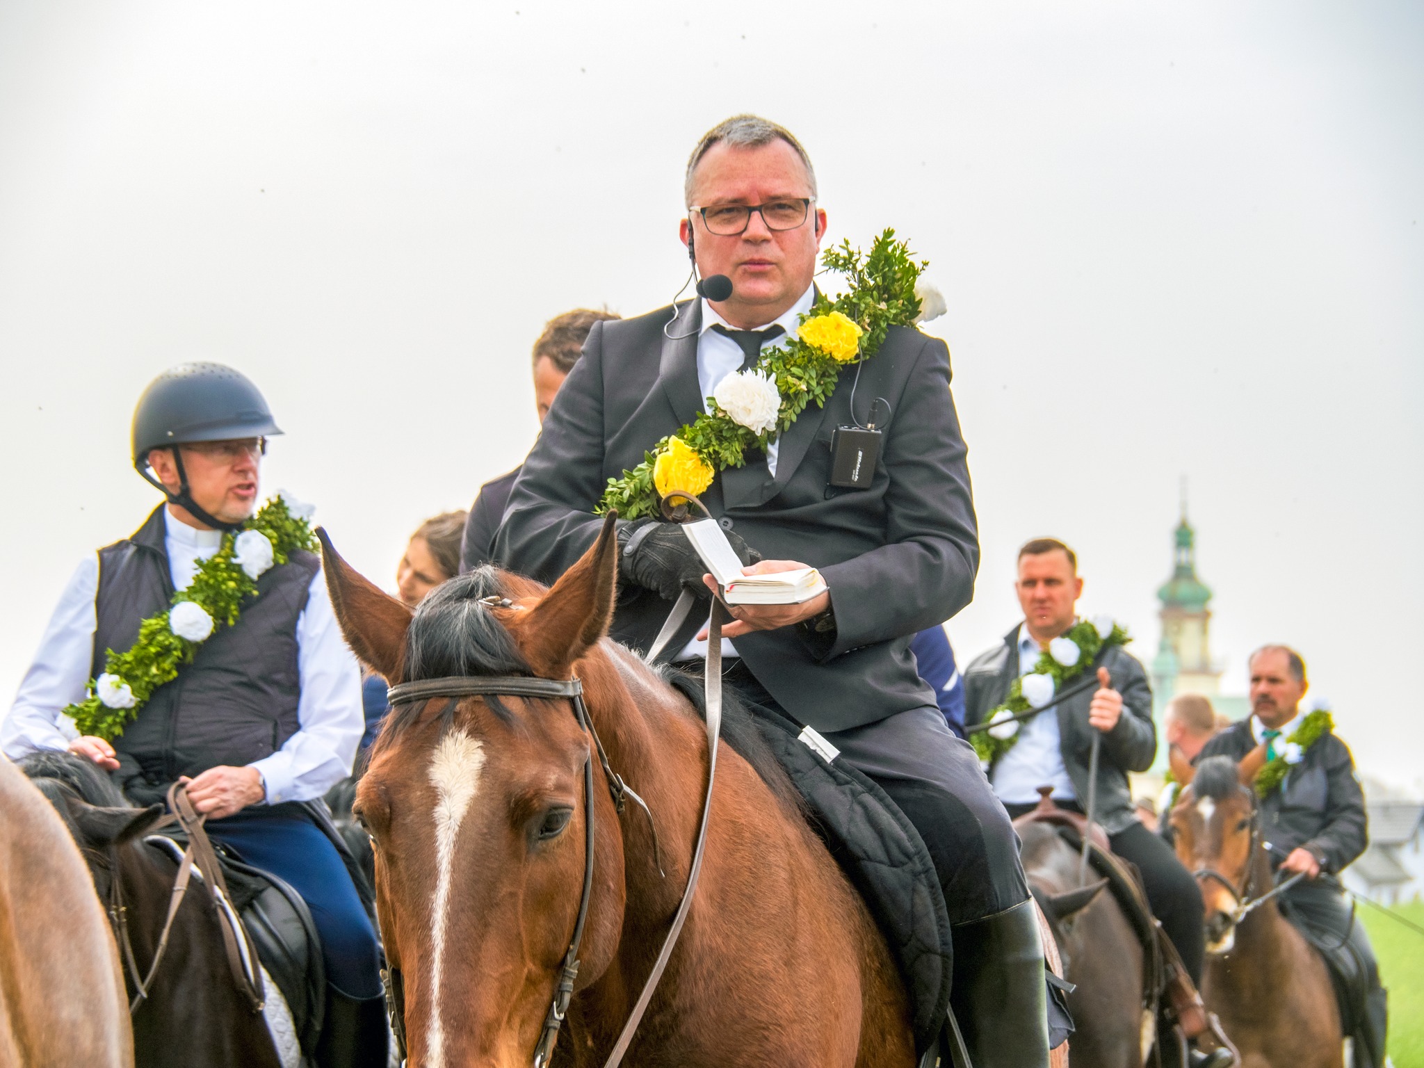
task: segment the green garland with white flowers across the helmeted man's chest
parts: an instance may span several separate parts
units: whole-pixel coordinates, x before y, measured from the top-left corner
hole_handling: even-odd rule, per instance
[[[249,531],[265,537],[271,550],[246,538]],[[90,679],[88,696],[66,708],[64,715],[74,719],[81,735],[112,740],[124,733],[152,692],[177,678],[179,666],[192,662],[194,652],[216,627],[238,621],[244,601],[258,594],[256,578],[269,567],[285,564],[296,550],[316,550],[308,515],[293,514],[281,496],[273,497],[242,524],[242,534],[222,535],[218,551],[198,564],[192,582],[174,594],[169,611],[138,625],[138,641],[131,649],[108,649],[104,674]],[[195,608],[179,608],[182,604]],[[177,631],[201,637],[182,637]]]

